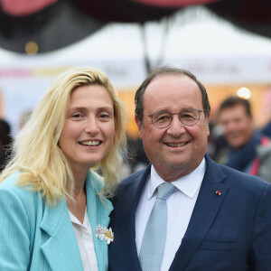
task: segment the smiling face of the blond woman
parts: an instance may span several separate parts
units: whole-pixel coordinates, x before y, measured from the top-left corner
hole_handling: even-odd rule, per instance
[[[88,171],[101,161],[114,132],[114,107],[107,89],[98,85],[74,89],[59,141],[72,171]]]

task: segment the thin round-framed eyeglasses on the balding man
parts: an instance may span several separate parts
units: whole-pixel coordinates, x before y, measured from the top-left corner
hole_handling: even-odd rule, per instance
[[[171,125],[173,115],[179,115],[180,121],[184,126],[194,126],[200,120],[201,112],[194,108],[184,109],[180,113],[170,113],[167,111],[155,112],[151,115],[145,115],[152,118],[152,123],[159,129],[166,128]]]

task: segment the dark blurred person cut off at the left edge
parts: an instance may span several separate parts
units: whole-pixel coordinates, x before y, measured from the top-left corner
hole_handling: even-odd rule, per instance
[[[8,162],[11,143],[10,125],[4,119],[0,119],[0,173],[4,170]]]

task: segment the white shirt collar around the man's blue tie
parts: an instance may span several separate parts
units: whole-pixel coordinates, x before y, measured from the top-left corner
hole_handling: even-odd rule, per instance
[[[203,157],[201,164],[198,165],[196,169],[185,176],[182,176],[180,179],[173,181],[173,185],[179,190],[182,191],[189,198],[193,198],[198,189],[201,186],[203,176],[205,173],[206,161]],[[159,184],[163,183],[164,180],[156,173],[154,165],[151,167],[151,176],[148,182],[148,192],[147,197],[150,200],[154,196],[154,192]]]

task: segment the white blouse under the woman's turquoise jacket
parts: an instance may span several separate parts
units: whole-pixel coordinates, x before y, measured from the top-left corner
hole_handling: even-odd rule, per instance
[[[98,263],[87,208],[85,211],[83,224],[81,224],[81,222],[71,213],[70,210],[69,214],[77,239],[84,271],[98,271]]]

